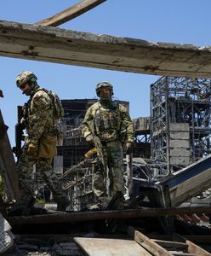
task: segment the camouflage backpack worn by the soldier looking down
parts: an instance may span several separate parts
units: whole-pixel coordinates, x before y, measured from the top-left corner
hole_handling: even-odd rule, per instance
[[[54,92],[52,92],[51,90],[46,90],[44,88],[40,90],[43,90],[44,92],[46,92],[51,99],[54,119],[56,120],[61,119],[64,116],[64,108],[61,105],[59,96]]]

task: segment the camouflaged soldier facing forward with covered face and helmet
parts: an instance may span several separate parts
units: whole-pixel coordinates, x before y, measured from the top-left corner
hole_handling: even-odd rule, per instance
[[[110,177],[110,195],[122,192],[123,183],[123,145],[126,154],[131,153],[134,143],[134,125],[127,109],[117,101],[113,101],[113,87],[109,82],[96,85],[96,94],[100,101],[88,108],[83,119],[82,133],[88,143],[94,143],[94,138],[106,148],[106,164]],[[95,145],[96,147],[96,145]],[[94,195],[97,201],[105,196],[105,172],[94,168]]]

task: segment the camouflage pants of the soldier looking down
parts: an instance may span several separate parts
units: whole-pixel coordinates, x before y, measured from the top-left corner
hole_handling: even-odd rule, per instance
[[[17,206],[29,206],[34,198],[35,180],[32,178],[32,172],[35,164],[44,183],[52,191],[54,201],[58,202],[60,198],[66,196],[61,189],[60,181],[53,172],[51,162],[52,159],[34,159],[27,156],[26,150],[24,150],[17,168],[20,183],[20,196],[16,201]]]

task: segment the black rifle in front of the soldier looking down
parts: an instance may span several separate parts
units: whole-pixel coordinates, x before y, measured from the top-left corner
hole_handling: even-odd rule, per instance
[[[24,141],[24,129],[25,125],[21,123],[21,119],[23,117],[23,109],[22,106],[17,107],[17,113],[18,113],[18,122],[15,125],[15,147],[13,148],[13,152],[17,159],[20,159],[20,155],[22,154],[22,147],[21,142]]]

